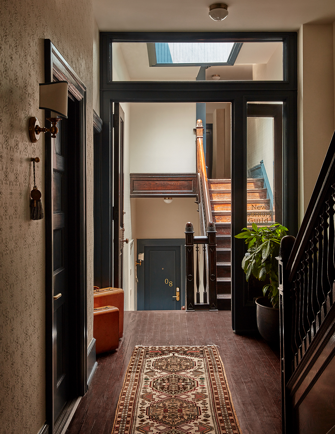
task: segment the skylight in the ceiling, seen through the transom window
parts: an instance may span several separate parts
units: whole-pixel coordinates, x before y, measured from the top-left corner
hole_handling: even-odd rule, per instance
[[[150,66],[234,65],[242,43],[155,42],[147,43]]]

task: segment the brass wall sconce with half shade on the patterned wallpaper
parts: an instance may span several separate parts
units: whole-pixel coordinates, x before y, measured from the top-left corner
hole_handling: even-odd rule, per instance
[[[39,83],[39,108],[55,112],[63,118],[68,117],[68,82],[59,81],[52,83]],[[61,118],[47,118],[51,122],[51,128],[41,128],[38,119],[33,116],[29,119],[29,137],[36,143],[41,133],[50,132],[51,137],[57,137],[57,122]]]

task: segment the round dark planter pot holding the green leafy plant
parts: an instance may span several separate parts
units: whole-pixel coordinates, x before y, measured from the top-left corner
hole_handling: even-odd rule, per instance
[[[271,307],[267,297],[258,297],[255,303],[260,335],[267,342],[278,343],[280,341],[279,309]]]

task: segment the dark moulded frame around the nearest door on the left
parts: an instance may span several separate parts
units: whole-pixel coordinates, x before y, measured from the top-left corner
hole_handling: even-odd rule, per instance
[[[76,130],[72,149],[75,153],[75,197],[72,198],[75,207],[73,227],[75,228],[75,302],[72,310],[72,331],[75,335],[76,372],[75,388],[77,397],[73,399],[59,417],[56,431],[62,431],[66,426],[80,397],[87,391],[87,243],[86,243],[86,87],[75,74],[68,62],[52,44],[50,39],[44,40],[45,82],[66,80],[68,82],[68,97],[77,102],[77,125],[68,125]],[[46,118],[51,112],[45,112]],[[47,123],[48,121],[46,121]],[[54,426],[54,358],[53,358],[53,223],[52,223],[52,142],[51,135],[45,136],[45,224],[46,224],[46,424],[49,434],[55,432]]]

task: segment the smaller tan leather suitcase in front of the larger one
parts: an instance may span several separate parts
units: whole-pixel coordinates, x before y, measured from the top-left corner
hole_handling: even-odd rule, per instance
[[[119,346],[119,309],[115,306],[102,306],[94,308],[93,312],[96,354],[116,350]]]

